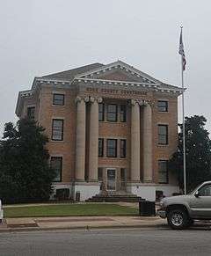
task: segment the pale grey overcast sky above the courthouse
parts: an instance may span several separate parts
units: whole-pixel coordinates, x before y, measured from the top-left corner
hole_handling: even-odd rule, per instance
[[[0,135],[16,121],[18,91],[33,77],[91,62],[133,65],[180,86],[184,26],[186,115],[203,114],[211,132],[209,0],[0,0]]]

